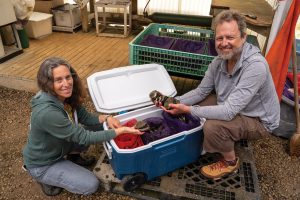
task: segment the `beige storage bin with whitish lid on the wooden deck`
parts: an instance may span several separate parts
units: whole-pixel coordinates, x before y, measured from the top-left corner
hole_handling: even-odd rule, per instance
[[[33,12],[25,26],[29,38],[41,38],[52,33],[52,14]]]

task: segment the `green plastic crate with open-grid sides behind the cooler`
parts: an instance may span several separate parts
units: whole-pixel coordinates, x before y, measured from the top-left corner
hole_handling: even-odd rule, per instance
[[[139,45],[146,35],[168,36],[195,41],[204,41],[214,38],[213,31],[189,26],[177,26],[169,24],[150,24],[144,31],[137,35],[130,43],[130,64],[139,65],[158,63],[163,65],[172,75],[184,77],[203,77],[208,65],[214,56],[195,54],[169,49],[155,48]]]

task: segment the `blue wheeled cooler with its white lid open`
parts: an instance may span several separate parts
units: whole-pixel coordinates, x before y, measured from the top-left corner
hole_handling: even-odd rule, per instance
[[[98,112],[127,111],[115,116],[122,124],[132,118],[139,121],[161,116],[162,109],[154,106],[149,98],[151,91],[158,90],[168,96],[177,93],[169,74],[159,64],[97,72],[88,77],[87,83]],[[125,184],[127,181],[131,190],[135,185],[195,162],[202,151],[203,124],[201,119],[199,127],[134,149],[120,149],[114,140],[103,145],[116,177],[125,180]]]

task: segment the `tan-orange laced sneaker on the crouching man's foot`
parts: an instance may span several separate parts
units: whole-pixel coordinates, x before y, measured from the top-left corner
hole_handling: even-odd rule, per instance
[[[200,172],[207,178],[220,179],[221,177],[236,172],[240,166],[240,159],[237,157],[235,163],[229,164],[222,159],[218,162],[206,165],[201,168]]]

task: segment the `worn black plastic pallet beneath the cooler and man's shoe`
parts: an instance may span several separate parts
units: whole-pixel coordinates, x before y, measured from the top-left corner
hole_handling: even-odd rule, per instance
[[[122,183],[115,177],[105,152],[94,168],[94,173],[103,183],[106,191],[128,195],[137,199],[158,200],[255,200],[261,198],[252,148],[247,141],[236,145],[240,158],[237,173],[219,180],[207,179],[201,175],[201,166],[212,163],[220,158],[219,154],[205,154],[195,163],[189,164],[174,172],[148,181],[133,192],[126,192]]]

